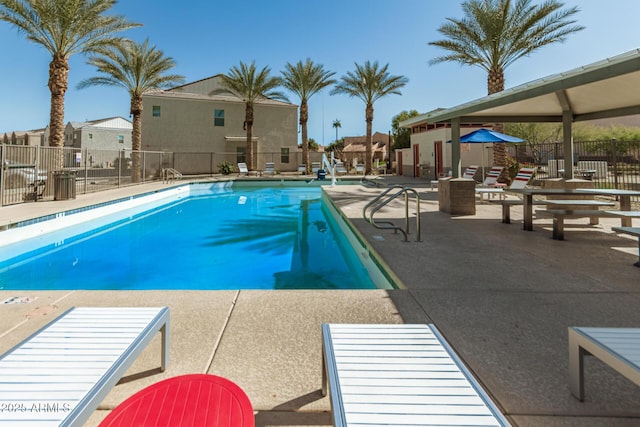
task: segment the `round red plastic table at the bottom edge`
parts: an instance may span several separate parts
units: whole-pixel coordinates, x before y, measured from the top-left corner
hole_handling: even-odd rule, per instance
[[[168,378],[114,408],[100,427],[254,427],[253,408],[233,382],[207,374]]]

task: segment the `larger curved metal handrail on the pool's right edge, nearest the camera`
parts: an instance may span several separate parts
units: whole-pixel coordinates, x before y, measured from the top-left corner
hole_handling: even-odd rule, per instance
[[[404,235],[404,241],[409,241],[409,194],[415,196],[413,200],[416,202],[416,242],[421,242],[420,239],[420,196],[418,192],[413,188],[404,187],[402,185],[394,185],[393,187],[389,187],[387,190],[383,191],[378,197],[367,203],[367,205],[362,209],[362,217],[369,221],[371,225],[375,228],[381,230],[394,230],[397,234],[400,231]],[[398,227],[395,223],[391,221],[376,221],[373,219],[373,216],[382,209],[384,206],[391,203],[393,200],[397,199],[400,196],[404,196],[404,216],[405,216],[405,226],[404,228]],[[369,211],[369,216],[367,217],[367,211]]]

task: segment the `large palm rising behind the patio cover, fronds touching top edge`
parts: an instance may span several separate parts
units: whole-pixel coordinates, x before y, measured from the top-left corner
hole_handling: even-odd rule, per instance
[[[448,54],[429,61],[475,65],[488,73],[488,94],[504,90],[504,70],[517,59],[549,44],[563,42],[584,27],[573,25],[577,7],[562,9],[563,3],[546,0],[531,5],[530,0],[468,0],[462,3],[465,17],[447,18],[438,28],[446,38],[430,42]],[[496,126],[502,130],[502,125]],[[505,144],[494,144],[494,163],[506,166]],[[506,168],[503,174],[506,174]],[[504,179],[505,177],[503,177]]]

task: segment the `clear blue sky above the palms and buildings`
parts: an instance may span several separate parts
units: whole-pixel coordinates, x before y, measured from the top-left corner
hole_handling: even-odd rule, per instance
[[[586,29],[565,43],[548,46],[520,59],[506,70],[506,87],[568,71],[640,48],[637,0],[566,0],[578,6],[576,18]],[[486,73],[454,63],[429,65],[443,53],[428,42],[441,39],[437,28],[445,18],[461,18],[455,0],[157,0],[120,1],[115,13],[143,24],[123,35],[150,42],[177,62],[175,71],[187,82],[227,73],[240,61],[255,61],[279,75],[287,62],[310,58],[336,78],[354,63],[389,63],[389,71],[409,83],[402,95],[375,104],[373,129],[391,130],[391,119],[403,110],[424,113],[453,107],[486,95]],[[49,120],[47,88],[50,56],[0,22],[0,132],[45,127]],[[65,122],[112,116],[129,117],[128,95],[122,89],[78,90],[82,79],[95,75],[85,58],[71,59]],[[640,92],[639,92],[640,96]],[[297,104],[295,96],[291,102]],[[332,123],[338,136],[364,135],[364,104],[329,91],[310,102],[309,137],[329,144]],[[242,134],[242,130],[238,130]]]

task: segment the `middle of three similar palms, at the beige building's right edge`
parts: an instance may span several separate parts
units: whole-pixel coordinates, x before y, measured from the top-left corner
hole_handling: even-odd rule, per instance
[[[282,72],[282,86],[298,95],[300,98],[300,127],[302,129],[302,159],[309,172],[309,139],[307,137],[307,121],[309,120],[308,101],[325,87],[334,84],[331,79],[335,73],[326,71],[322,65],[314,64],[309,58],[303,63],[287,63]]]

